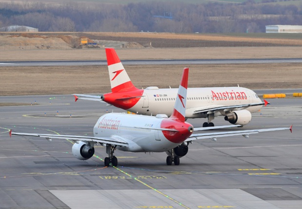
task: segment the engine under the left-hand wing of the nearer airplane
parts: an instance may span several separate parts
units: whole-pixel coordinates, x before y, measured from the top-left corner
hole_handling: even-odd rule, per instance
[[[94,147],[81,141],[72,146],[72,154],[79,160],[88,160],[94,155]]]

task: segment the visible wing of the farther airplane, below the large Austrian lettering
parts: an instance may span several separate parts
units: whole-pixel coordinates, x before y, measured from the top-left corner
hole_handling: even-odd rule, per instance
[[[249,106],[259,106],[259,105],[265,105],[266,106],[267,104],[269,104],[269,102],[264,100],[263,103],[238,104],[238,105],[214,106],[214,107],[205,106],[205,107],[197,108],[194,111],[194,114],[197,114],[197,113],[207,113],[208,114],[208,112],[213,113],[216,110],[223,110],[224,112],[226,112],[226,111],[234,110],[234,109],[237,109],[237,108],[244,109],[244,108],[247,108]]]

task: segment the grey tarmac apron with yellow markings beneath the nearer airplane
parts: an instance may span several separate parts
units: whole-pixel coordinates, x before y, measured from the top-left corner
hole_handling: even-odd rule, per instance
[[[122,110],[72,95],[8,96],[0,107],[0,208],[234,208],[302,207],[302,98],[270,99],[244,129],[290,131],[195,141],[180,166],[165,153],[116,151],[118,167],[103,167],[105,148],[77,160],[67,140],[9,138],[8,130],[92,135],[97,119]],[[195,127],[205,119],[188,120]],[[227,125],[222,117],[215,125]],[[227,129],[229,130],[229,129]]]

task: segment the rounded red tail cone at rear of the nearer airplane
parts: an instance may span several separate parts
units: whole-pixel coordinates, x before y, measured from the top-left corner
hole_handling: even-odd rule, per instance
[[[193,133],[193,125],[176,120],[162,120],[161,128],[171,128],[177,131],[162,131],[164,137],[170,142],[181,144]]]

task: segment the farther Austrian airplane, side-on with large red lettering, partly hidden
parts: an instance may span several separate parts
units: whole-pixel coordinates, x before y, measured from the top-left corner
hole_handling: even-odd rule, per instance
[[[172,115],[177,88],[150,86],[139,89],[131,82],[115,49],[106,48],[111,91],[101,96],[74,94],[78,99],[105,102],[141,115]],[[242,87],[188,88],[185,118],[207,118],[203,127],[214,126],[212,120],[224,116],[224,120],[234,125],[247,125],[251,113],[257,112],[264,102],[257,94]]]

